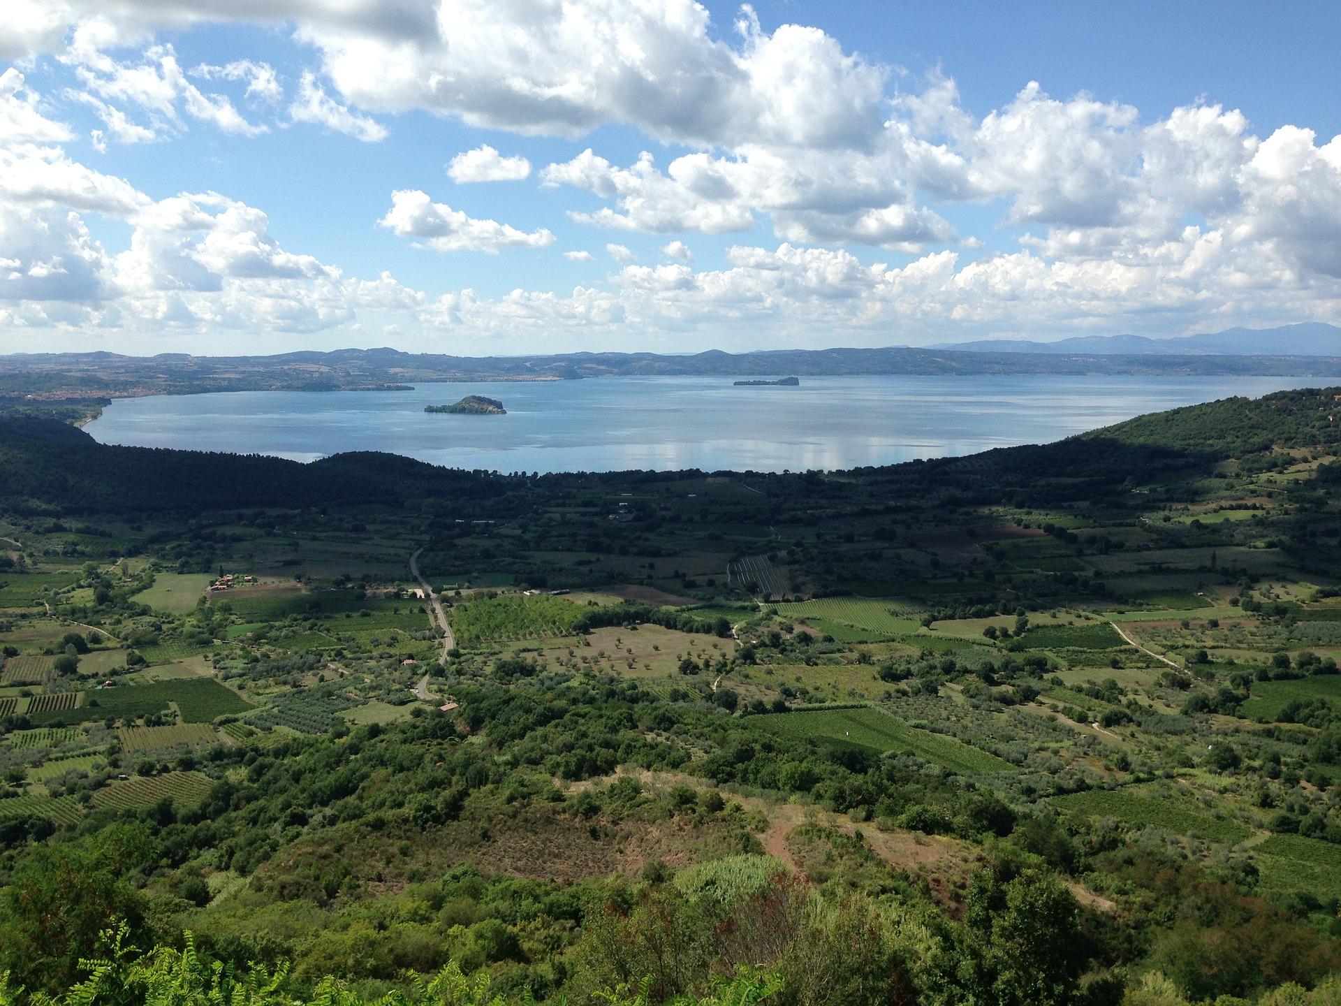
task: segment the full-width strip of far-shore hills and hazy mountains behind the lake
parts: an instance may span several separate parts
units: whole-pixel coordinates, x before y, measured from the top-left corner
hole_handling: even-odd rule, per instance
[[[1341,377],[1341,329],[1291,325],[1214,335],[1147,339],[1088,337],[1062,342],[968,342],[952,349],[780,349],[567,353],[452,357],[396,349],[299,351],[272,357],[162,353],[0,355],[0,408],[31,400],[107,400],[141,394],[239,390],[402,389],[426,381],[571,381],[590,377],[699,374],[772,378],[837,374],[1152,374]]]

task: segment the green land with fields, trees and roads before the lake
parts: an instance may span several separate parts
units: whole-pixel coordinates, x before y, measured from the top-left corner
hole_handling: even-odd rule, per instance
[[[42,409],[0,1003],[1341,995],[1341,388],[748,476]]]

